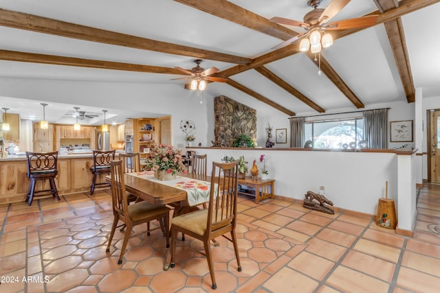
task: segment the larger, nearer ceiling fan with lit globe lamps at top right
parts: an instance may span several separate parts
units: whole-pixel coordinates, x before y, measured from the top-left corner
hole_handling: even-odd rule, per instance
[[[272,49],[278,49],[294,43],[296,40],[303,38],[300,42],[300,51],[308,51],[311,53],[319,53],[321,48],[330,47],[333,44],[333,37],[327,33],[327,30],[347,30],[357,27],[368,27],[374,25],[378,15],[362,16],[355,19],[344,19],[342,21],[329,21],[338,14],[351,0],[333,0],[327,8],[318,8],[322,0],[308,0],[307,5],[314,10],[307,12],[304,21],[295,21],[294,19],[285,19],[283,17],[272,17],[270,21],[283,25],[292,25],[295,27],[303,27],[306,32],[298,34],[285,42],[276,45]],[[304,38],[309,36],[309,38]]]

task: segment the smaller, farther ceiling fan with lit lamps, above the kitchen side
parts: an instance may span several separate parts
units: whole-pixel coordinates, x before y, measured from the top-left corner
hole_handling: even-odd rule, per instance
[[[194,60],[196,67],[192,67],[192,69],[187,70],[183,69],[181,67],[175,67],[175,69],[178,69],[179,71],[190,75],[185,78],[173,78],[172,80],[191,80],[190,82],[190,89],[198,89],[200,91],[203,91],[206,89],[206,80],[210,82],[227,82],[225,78],[217,78],[215,76],[210,76],[214,73],[217,73],[219,69],[217,67],[210,67],[208,69],[204,69],[200,66],[201,60],[197,59]]]

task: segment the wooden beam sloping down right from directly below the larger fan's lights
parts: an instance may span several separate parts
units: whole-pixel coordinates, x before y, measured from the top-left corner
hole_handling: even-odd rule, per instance
[[[320,60],[315,60],[315,54],[311,54],[309,51],[306,52],[307,56],[314,62],[316,67],[320,67],[321,71],[327,75],[327,78],[333,82],[333,84],[338,87],[338,89],[350,100],[356,108],[365,108],[365,105],[360,101],[360,99],[351,91],[349,86],[342,80],[335,69],[330,66],[329,62],[321,55]]]

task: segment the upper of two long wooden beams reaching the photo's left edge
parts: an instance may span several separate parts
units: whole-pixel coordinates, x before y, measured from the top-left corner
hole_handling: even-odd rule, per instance
[[[141,38],[139,36],[131,36],[129,34],[121,34],[118,32],[97,29],[95,27],[87,27],[85,25],[77,25],[75,23],[67,23],[65,21],[57,21],[56,19],[48,19],[43,16],[4,9],[0,9],[0,25],[19,30],[30,30],[32,32],[41,32],[43,34],[76,38],[79,40],[89,40],[91,42],[109,45],[118,45],[234,64],[248,64],[252,61],[251,58],[176,45],[173,43],[161,42],[159,40],[151,40],[149,38]]]

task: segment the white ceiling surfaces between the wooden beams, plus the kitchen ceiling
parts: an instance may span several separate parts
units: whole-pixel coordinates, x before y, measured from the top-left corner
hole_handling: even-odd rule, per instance
[[[282,16],[302,21],[304,14],[311,10],[306,0],[231,0],[230,2],[266,19]],[[323,0],[320,8],[327,7],[330,2],[331,0]],[[267,54],[273,51],[272,47],[283,41],[170,0],[0,0],[0,8],[246,58]],[[373,0],[352,0],[332,21],[359,17],[375,10],[377,7]],[[425,97],[440,96],[440,58],[435,54],[436,48],[440,47],[440,38],[437,37],[437,30],[440,27],[439,15],[440,3],[436,3],[401,18],[414,85],[415,88],[423,89]],[[294,27],[289,28],[298,30]],[[194,67],[195,58],[188,56],[94,43],[10,27],[0,26],[0,36],[0,49],[11,51],[170,68]],[[333,46],[324,49],[322,55],[367,108],[369,105],[384,102],[406,101],[384,25],[375,25],[339,38]],[[235,66],[214,60],[203,60],[201,65],[205,68],[215,66],[220,70]],[[325,75],[318,75],[318,68],[304,54],[294,54],[271,62],[265,67],[327,112],[340,109],[356,110],[349,99]],[[0,60],[0,78],[181,84],[183,88],[184,81],[170,80],[178,77],[179,75]],[[315,110],[254,70],[232,75],[230,78],[292,110],[297,115],[316,114]],[[232,86],[218,82],[208,84],[207,91],[213,96],[237,92]],[[254,97],[241,94],[249,101],[255,100]],[[41,119],[42,107],[39,103],[44,101],[7,97],[2,95],[1,89],[0,97],[2,107],[20,108],[22,117],[29,118],[34,115],[35,119]],[[50,104],[50,113],[52,113],[50,115],[54,115],[52,109],[56,109],[57,113],[56,117],[50,119],[56,123],[72,123],[74,118],[65,113],[73,110],[74,106],[79,106],[81,110],[87,112],[100,113],[103,117],[102,101],[99,99],[96,101],[96,107],[75,105],[71,101],[63,100],[63,97],[60,97],[59,102],[59,104]],[[112,118],[113,121],[117,121],[117,117],[121,118],[118,121],[123,121],[126,117],[143,116],[143,113],[132,111],[124,113],[118,109],[107,110],[109,110],[108,121]],[[85,122],[100,124],[102,117],[99,121],[92,119]]]

